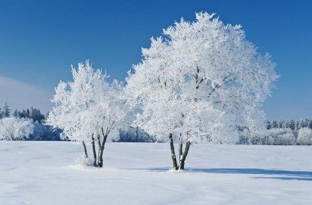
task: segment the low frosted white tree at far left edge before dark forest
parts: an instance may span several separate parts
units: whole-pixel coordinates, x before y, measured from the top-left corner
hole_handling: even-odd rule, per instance
[[[34,124],[31,119],[16,117],[0,119],[0,140],[25,140],[33,130]]]

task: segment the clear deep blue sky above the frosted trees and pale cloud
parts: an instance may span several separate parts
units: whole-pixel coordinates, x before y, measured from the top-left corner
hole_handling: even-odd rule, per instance
[[[0,76],[53,92],[89,58],[123,80],[151,36],[195,12],[241,24],[281,75],[269,119],[312,117],[312,1],[1,1]],[[0,93],[1,95],[1,93]],[[18,99],[17,99],[18,100]],[[21,99],[19,99],[21,100]]]

